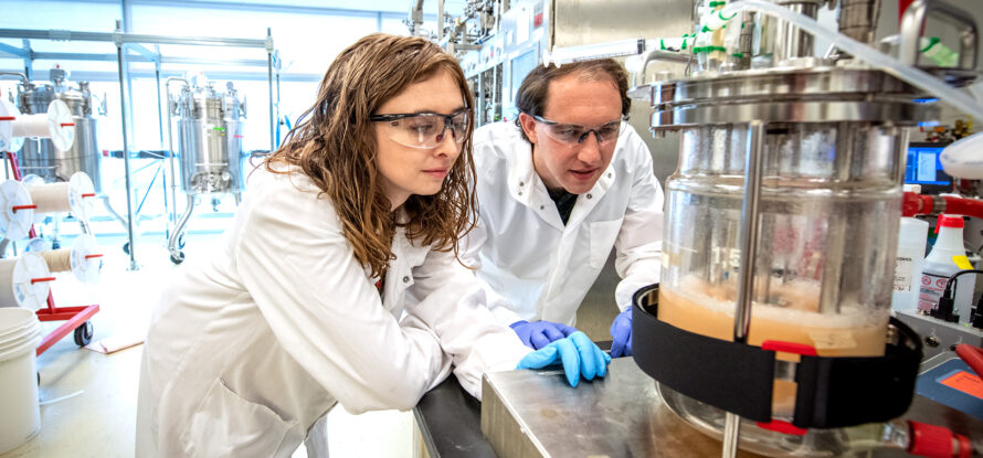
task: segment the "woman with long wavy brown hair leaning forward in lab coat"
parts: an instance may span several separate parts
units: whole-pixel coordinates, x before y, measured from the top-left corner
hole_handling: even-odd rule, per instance
[[[530,353],[457,259],[472,106],[426,40],[373,34],[336,58],[218,252],[155,309],[137,456],[286,457],[335,404],[409,409],[452,371],[475,396],[488,371],[604,375],[582,333]]]

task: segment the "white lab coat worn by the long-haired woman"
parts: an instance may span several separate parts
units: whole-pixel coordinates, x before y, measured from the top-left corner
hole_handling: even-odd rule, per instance
[[[336,402],[409,409],[452,368],[480,396],[483,372],[529,352],[453,253],[402,230],[380,300],[302,174],[256,170],[218,248],[178,269],[154,311],[138,457],[288,457]]]

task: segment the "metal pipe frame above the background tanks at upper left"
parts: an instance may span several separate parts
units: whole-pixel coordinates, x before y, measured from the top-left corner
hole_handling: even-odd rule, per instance
[[[24,60],[24,68],[29,78],[33,78],[33,61],[61,60],[61,61],[116,61],[117,72],[119,75],[119,98],[120,98],[120,118],[123,120],[123,163],[126,174],[126,225],[129,246],[129,270],[137,270],[139,266],[136,260],[136,248],[134,244],[134,210],[133,210],[133,183],[130,182],[130,153],[129,138],[127,132],[133,125],[133,90],[131,78],[129,76],[130,62],[154,62],[155,74],[157,77],[157,99],[158,108],[161,104],[160,97],[160,68],[163,64],[224,64],[239,66],[263,66],[266,65],[266,81],[269,87],[269,149],[276,149],[276,121],[278,113],[274,115],[274,110],[278,110],[279,106],[279,56],[273,47],[273,36],[271,29],[266,29],[266,38],[264,40],[251,39],[226,39],[211,36],[171,36],[171,35],[150,35],[141,33],[124,32],[121,21],[116,21],[116,30],[112,33],[104,32],[75,32],[67,30],[27,30],[27,29],[0,29],[0,39],[21,39],[24,47],[11,46],[0,43],[0,55],[7,54]],[[82,54],[82,53],[50,53],[34,52],[31,50],[30,40],[50,40],[50,41],[93,41],[109,42],[116,45],[116,55],[113,54]],[[160,52],[155,52],[145,47],[145,44],[180,44],[194,46],[220,46],[220,47],[258,47],[266,51],[266,60],[202,60],[188,57],[165,57]],[[133,53],[131,53],[133,52]],[[134,54],[135,53],[135,54]],[[277,82],[276,96],[274,98],[274,71]],[[163,125],[161,118],[160,136],[163,139]],[[161,141],[162,142],[162,141]],[[173,161],[173,158],[170,159]],[[177,183],[171,180],[171,187]],[[171,202],[175,205],[176,202]]]

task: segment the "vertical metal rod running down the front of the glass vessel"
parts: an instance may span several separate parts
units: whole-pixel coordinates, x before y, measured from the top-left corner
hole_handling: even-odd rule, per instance
[[[748,156],[744,158],[744,203],[741,209],[741,267],[738,271],[737,308],[733,313],[733,341],[748,341],[751,302],[754,298],[754,259],[758,251],[758,216],[761,201],[761,164],[764,156],[764,123],[748,125]],[[740,417],[727,413],[723,423],[723,457],[737,456]]]

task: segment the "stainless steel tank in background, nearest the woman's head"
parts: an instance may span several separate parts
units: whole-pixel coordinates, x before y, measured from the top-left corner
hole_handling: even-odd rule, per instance
[[[180,93],[171,93],[172,82],[183,82]],[[181,190],[188,195],[184,213],[168,238],[171,260],[180,264],[184,260],[184,254],[179,245],[182,245],[182,232],[194,210],[195,199],[211,194],[212,204],[218,205],[219,195],[231,193],[235,196],[236,204],[241,201],[245,184],[242,173],[242,132],[246,106],[232,83],[226,83],[225,92],[220,92],[215,89],[214,82],[169,78],[167,87],[168,131],[171,132],[172,125],[177,127]],[[172,121],[172,117],[177,117],[177,121]],[[172,134],[169,136],[172,137]],[[171,182],[177,183],[173,160]],[[176,184],[171,188],[171,201],[176,202],[173,187]],[[177,220],[177,215],[172,216]]]

